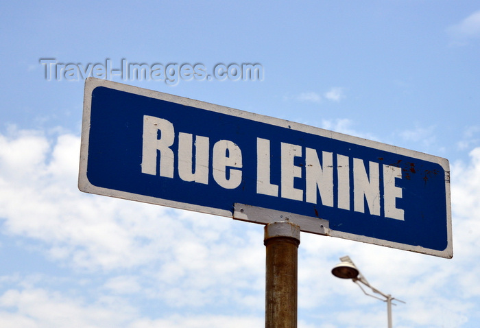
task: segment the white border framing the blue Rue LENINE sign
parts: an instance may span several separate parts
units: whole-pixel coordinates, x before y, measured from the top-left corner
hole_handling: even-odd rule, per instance
[[[302,226],[300,226],[300,229],[302,231],[310,232],[310,233],[318,233],[320,235],[330,235],[332,237],[340,237],[344,239],[350,239],[350,240],[355,240],[358,242],[365,242],[368,244],[375,244],[375,245],[380,245],[380,246],[387,246],[391,248],[397,248],[397,249],[402,249],[402,250],[409,250],[412,252],[416,253],[422,253],[422,254],[427,254],[427,255],[434,255],[437,257],[446,257],[446,258],[451,258],[453,257],[453,246],[452,246],[452,224],[451,224],[451,195],[450,195],[450,165],[448,164],[447,159],[443,159],[441,157],[429,155],[429,154],[424,154],[422,152],[416,152],[413,150],[407,150],[405,148],[400,148],[396,147],[394,145],[387,145],[385,143],[380,143],[377,141],[370,141],[367,139],[359,138],[359,137],[353,137],[347,134],[341,134],[339,132],[333,132],[329,130],[324,130],[321,128],[315,128],[313,126],[307,126],[304,124],[299,124],[296,122],[292,121],[286,121],[284,119],[277,119],[274,117],[267,117],[264,115],[259,115],[259,114],[254,114],[254,113],[249,113],[245,112],[243,110],[237,110],[233,108],[228,108],[224,106],[219,106],[215,104],[209,104],[207,102],[200,102],[198,100],[193,100],[185,97],[179,97],[176,95],[169,95],[167,93],[161,93],[158,91],[151,91],[147,89],[142,89],[136,86],[130,86],[126,84],[121,84],[117,82],[112,82],[108,80],[99,80],[96,78],[87,78],[85,81],[85,91],[84,91],[84,112],[83,112],[83,121],[82,121],[82,145],[80,148],[80,172],[79,172],[79,179],[78,179],[78,188],[81,191],[91,193],[91,194],[98,194],[98,195],[103,195],[103,196],[110,196],[110,197],[116,197],[116,198],[123,198],[126,200],[136,200],[139,202],[146,202],[149,204],[158,204],[158,205],[163,205],[167,207],[174,207],[177,209],[187,209],[189,211],[197,211],[197,212],[202,212],[202,213],[209,213],[213,215],[220,215],[220,216],[225,216],[228,218],[235,218],[237,220],[243,220],[243,221],[248,221],[248,222],[254,222],[254,223],[261,223],[261,224],[267,224],[268,222],[262,222],[257,219],[252,218],[252,220],[248,219],[248,214],[247,213],[241,213],[239,214],[238,211],[235,211],[233,214],[230,211],[225,211],[222,209],[215,209],[211,207],[204,207],[200,205],[195,205],[195,204],[188,204],[188,203],[183,203],[183,202],[176,202],[172,200],[163,200],[160,198],[154,198],[154,197],[149,197],[149,196],[142,196],[138,194],[131,194],[128,192],[124,191],[117,191],[117,190],[112,190],[112,189],[106,189],[106,188],[101,188],[101,187],[96,187],[92,185],[86,176],[86,166],[87,166],[87,156],[88,156],[88,138],[90,135],[90,115],[91,115],[91,98],[92,98],[92,92],[93,89],[95,89],[97,86],[105,86],[106,88],[109,89],[115,89],[119,91],[125,91],[128,93],[134,93],[136,95],[143,95],[145,97],[151,97],[154,99],[161,99],[165,100],[167,102],[173,102],[176,104],[182,104],[185,106],[191,106],[194,108],[201,108],[203,110],[210,110],[215,113],[221,113],[225,115],[231,115],[235,117],[243,117],[245,119],[250,119],[252,121],[259,121],[265,124],[270,124],[274,126],[279,126],[281,128],[288,128],[291,130],[298,130],[301,132],[306,132],[309,134],[317,134],[322,137],[327,137],[331,139],[336,139],[339,141],[346,141],[348,143],[355,143],[357,145],[363,145],[366,147],[374,148],[377,150],[384,150],[386,152],[392,152],[396,154],[400,154],[403,156],[409,156],[411,158],[415,159],[420,159],[423,161],[429,161],[433,163],[438,163],[439,165],[442,166],[442,168],[446,172],[446,180],[445,180],[445,190],[446,190],[446,213],[447,213],[447,218],[446,218],[446,223],[447,223],[447,238],[448,238],[448,246],[445,250],[431,250],[427,248],[423,248],[420,246],[410,246],[410,245],[405,245],[405,244],[399,244],[395,242],[388,242],[383,239],[375,239],[372,237],[365,237],[361,235],[353,235],[351,233],[343,233],[339,231],[333,231],[331,229],[328,229],[328,226],[325,226],[326,229],[324,229],[324,220],[319,220],[319,222],[322,223],[322,228],[320,229],[302,229]],[[256,208],[260,209],[260,208]],[[250,209],[250,216],[252,216],[252,213],[256,213],[257,211]],[[263,211],[261,211],[263,213]],[[298,218],[298,222],[302,222],[302,215],[296,215],[292,213],[285,213],[286,215],[289,215],[289,218]],[[303,217],[304,218],[304,217]],[[274,219],[272,219],[274,220]],[[295,219],[293,219],[295,220]],[[319,223],[320,224],[320,223]]]

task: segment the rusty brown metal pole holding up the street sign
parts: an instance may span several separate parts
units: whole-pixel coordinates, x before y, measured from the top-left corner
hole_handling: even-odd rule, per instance
[[[287,221],[265,226],[265,328],[297,327],[300,226]]]

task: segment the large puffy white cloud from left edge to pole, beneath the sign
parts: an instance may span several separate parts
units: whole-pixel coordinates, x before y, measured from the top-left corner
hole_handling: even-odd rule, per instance
[[[0,135],[2,233],[74,270],[142,270],[106,281],[114,294],[144,293],[176,307],[231,303],[238,290],[245,300],[262,294],[261,226],[83,194],[79,152],[71,134]],[[245,274],[248,282],[239,279]]]

